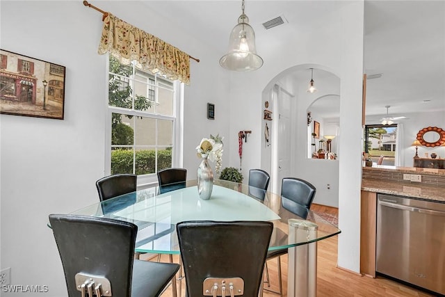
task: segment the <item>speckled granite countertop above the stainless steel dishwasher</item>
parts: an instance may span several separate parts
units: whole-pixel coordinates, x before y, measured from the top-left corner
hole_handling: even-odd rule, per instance
[[[445,202],[445,187],[412,182],[362,179],[362,190]]]

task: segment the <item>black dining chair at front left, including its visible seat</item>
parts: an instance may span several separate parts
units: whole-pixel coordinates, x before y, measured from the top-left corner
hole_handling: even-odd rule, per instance
[[[156,297],[178,264],[133,259],[138,227],[112,218],[50,214],[69,297]]]

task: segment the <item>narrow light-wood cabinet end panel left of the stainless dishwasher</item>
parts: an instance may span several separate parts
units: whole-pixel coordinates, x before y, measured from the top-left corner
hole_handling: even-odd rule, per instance
[[[375,278],[377,193],[362,191],[360,203],[360,273]]]

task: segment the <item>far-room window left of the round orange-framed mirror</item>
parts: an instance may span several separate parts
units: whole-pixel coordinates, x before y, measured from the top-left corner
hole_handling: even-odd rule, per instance
[[[366,125],[364,134],[364,152],[370,154],[372,161],[385,156],[382,165],[394,165],[397,125]]]

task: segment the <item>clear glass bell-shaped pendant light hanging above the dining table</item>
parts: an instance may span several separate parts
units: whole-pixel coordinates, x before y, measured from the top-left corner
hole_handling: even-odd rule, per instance
[[[229,37],[229,52],[220,58],[221,67],[233,71],[257,70],[263,65],[263,59],[255,49],[255,33],[244,13],[244,0],[241,4],[243,13],[238,17],[238,24]]]

